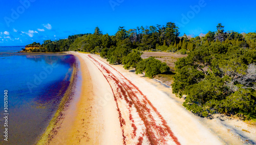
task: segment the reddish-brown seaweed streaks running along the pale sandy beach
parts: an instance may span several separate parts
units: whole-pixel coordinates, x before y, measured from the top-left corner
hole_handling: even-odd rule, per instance
[[[101,67],[101,69],[103,69],[107,74],[109,74],[109,79],[112,79],[113,81],[115,81],[116,82],[116,84],[118,85],[118,88],[120,89],[120,91],[119,91],[119,93],[121,93],[120,95],[121,96],[123,96],[124,97],[124,99],[125,99],[125,102],[127,103],[127,104],[129,104],[129,106],[131,107],[131,105],[133,104],[134,106],[135,106],[135,108],[136,108],[136,110],[137,110],[137,112],[138,112],[138,114],[139,114],[139,116],[140,116],[140,118],[142,119],[142,121],[144,122],[144,125],[145,125],[145,127],[146,127],[146,136],[147,136],[147,138],[150,140],[150,142],[151,143],[160,143],[160,142],[165,142],[164,140],[164,138],[162,138],[162,135],[163,136],[165,136],[166,134],[165,134],[165,131],[164,130],[166,130],[168,133],[169,133],[169,135],[170,135],[170,137],[172,137],[172,139],[173,139],[173,141],[176,143],[176,144],[180,144],[180,142],[178,141],[178,139],[177,139],[177,137],[176,136],[174,136],[174,134],[173,134],[173,132],[172,132],[172,130],[170,130],[170,127],[167,125],[167,123],[166,123],[166,121],[163,119],[163,117],[162,117],[162,115],[157,111],[157,109],[153,106],[153,104],[146,98],[146,96],[145,95],[143,95],[142,94],[142,92],[137,88],[137,86],[136,85],[134,85],[130,80],[128,80],[127,78],[125,78],[120,72],[118,72],[115,68],[113,68],[112,66],[110,66],[109,64],[106,64],[105,62],[103,62],[103,61],[101,61],[101,62],[103,62],[103,63],[105,63],[106,65],[108,65],[108,66],[110,66],[112,69],[114,69],[115,70],[115,72],[117,72],[120,76],[122,76],[123,77],[123,79],[125,79],[127,82],[129,82],[129,84],[131,84],[132,86],[130,86],[129,84],[127,84],[127,83],[125,83],[125,82],[121,82],[121,81],[119,81],[118,79],[117,79],[117,77],[112,73],[112,72],[110,72],[108,69],[106,69],[102,64],[100,64],[98,61],[96,61],[91,55],[88,55],[92,60],[92,62],[94,63],[94,65],[97,67],[97,65],[95,64],[95,63],[97,63],[100,67]],[[89,59],[90,60],[90,59]],[[99,67],[98,67],[98,69],[99,69]],[[99,69],[100,70],[100,69]],[[101,71],[101,70],[100,70]],[[108,83],[110,84],[110,86],[111,86],[111,83],[109,82],[109,80],[108,80],[108,77],[107,76],[105,76],[105,74],[101,71],[101,73],[103,74],[103,76],[106,78],[106,80],[108,81]],[[112,75],[112,76],[111,76]],[[113,77],[114,76],[114,77]],[[120,82],[122,85],[120,85],[120,84],[118,84],[118,82]],[[112,88],[112,86],[111,86],[111,88]],[[135,91],[132,91],[133,89],[135,89]],[[126,90],[126,92],[127,92],[127,94],[128,95],[126,95],[126,93],[125,93],[125,90]],[[117,91],[117,93],[118,93],[118,90],[116,90]],[[139,92],[139,94],[143,97],[143,99],[142,99],[142,101],[143,102],[140,102],[141,101],[141,99],[139,99],[138,98],[138,96],[136,95],[136,91],[138,91]],[[117,96],[115,95],[115,93],[114,93],[114,90],[113,90],[113,88],[112,88],[112,92],[113,92],[113,94],[114,94],[114,97],[115,97],[115,101],[116,101],[116,105],[117,105],[117,108],[118,108],[118,112],[119,112],[119,120],[120,120],[120,124],[121,124],[121,128],[122,128],[122,132],[123,132],[123,142],[124,142],[124,144],[125,144],[125,135],[124,135],[124,129],[123,129],[123,121],[124,121],[124,119],[121,117],[121,111],[120,111],[120,109],[119,109],[119,107],[118,107],[118,103],[117,103]],[[120,96],[120,97],[121,97]],[[130,98],[131,99],[131,101],[130,100],[128,100],[127,98]],[[142,104],[141,104],[142,103]],[[148,108],[147,107],[147,105],[149,105],[150,106],[150,108]],[[159,119],[161,119],[161,122],[162,122],[162,125],[164,126],[164,127],[161,127],[161,126],[158,126],[157,124],[156,124],[156,121],[154,120],[154,117],[153,117],[153,115],[151,114],[151,112],[152,112],[152,110],[151,110],[151,108],[154,110],[154,113],[156,113],[157,114],[157,116],[159,117]],[[131,114],[131,112],[129,112],[130,113],[130,115],[132,115]],[[130,116],[130,120],[132,119],[132,116]],[[131,120],[132,122],[133,122],[133,124],[132,124],[132,126],[133,126],[133,128],[135,129],[135,131],[134,132],[136,132],[136,126],[134,127],[134,120],[132,119]],[[124,123],[125,124],[125,123]],[[153,129],[155,129],[156,131],[158,130],[158,133],[161,133],[160,135],[160,137],[161,138],[157,138],[156,136],[155,136],[155,134],[154,134],[154,132],[153,132]],[[135,134],[136,135],[136,134]],[[141,138],[141,137],[140,137]],[[160,141],[160,142],[159,142]]]

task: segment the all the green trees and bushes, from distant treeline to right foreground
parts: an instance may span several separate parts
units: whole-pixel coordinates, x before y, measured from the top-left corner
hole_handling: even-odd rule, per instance
[[[33,52],[83,51],[98,53],[110,64],[123,64],[153,78],[169,71],[154,57],[141,59],[142,51],[166,51],[188,54],[176,62],[173,93],[185,97],[185,106],[195,114],[209,117],[215,113],[256,118],[256,33],[224,31],[219,23],[216,32],[195,38],[180,37],[175,23],[140,26],[125,30],[119,26],[115,35],[79,34],[57,41],[46,40]]]

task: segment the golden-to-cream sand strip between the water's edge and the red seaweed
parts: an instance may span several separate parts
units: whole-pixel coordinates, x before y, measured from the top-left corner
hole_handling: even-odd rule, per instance
[[[103,101],[106,95],[112,97],[110,86],[89,60],[84,60],[79,54],[74,55],[80,61],[81,92],[77,101],[72,100],[64,112],[62,126],[48,144],[121,144],[121,130],[117,126],[120,123],[114,100],[108,104]],[[73,110],[72,105],[75,106]],[[70,120],[71,115],[73,120]]]

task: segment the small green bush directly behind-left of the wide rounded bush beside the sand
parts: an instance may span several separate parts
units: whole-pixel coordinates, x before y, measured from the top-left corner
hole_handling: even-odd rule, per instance
[[[140,55],[142,52],[135,50],[132,53],[129,53],[127,56],[123,57],[122,64],[124,65],[124,69],[128,70],[130,68],[137,67],[137,64],[142,60]]]

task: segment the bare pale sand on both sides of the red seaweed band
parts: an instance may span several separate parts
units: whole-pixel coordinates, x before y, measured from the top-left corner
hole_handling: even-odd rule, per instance
[[[67,53],[72,54],[72,52]],[[97,55],[83,53],[73,53],[73,55],[78,57],[80,62],[81,94],[78,98],[79,101],[70,104],[66,110],[67,115],[63,117],[62,126],[56,130],[57,133],[48,144],[59,142],[66,144],[123,144],[124,141],[129,144],[131,141],[136,142],[137,139],[133,139],[133,135],[129,135],[133,129],[129,125],[122,126],[120,115],[124,115],[121,119],[125,120],[126,123],[131,123],[135,129],[133,132],[135,134],[136,130],[137,132],[144,130],[141,125],[146,121],[137,124],[140,118],[137,115],[136,122],[133,120],[129,122],[129,118],[125,117],[129,115],[129,111],[122,111],[121,113],[120,110],[118,111],[118,109],[125,109],[127,105],[123,104],[124,101],[118,103],[118,99],[115,99],[118,94],[115,92],[116,84],[112,82],[105,71],[113,73],[113,76],[118,78],[121,83],[126,81],[125,83],[132,82],[136,85],[137,89],[140,89],[148,102],[151,103],[151,106],[155,107],[159,115],[162,115],[162,119],[166,121],[166,126],[172,129],[181,144],[243,144],[241,138],[232,134],[232,130],[227,130],[224,122],[201,119],[187,111],[181,105],[182,101],[159,82],[124,70],[121,65],[109,65],[106,60]],[[121,75],[118,74],[119,72]],[[127,80],[123,78],[127,78]],[[72,106],[75,106],[74,110],[70,109]],[[69,118],[72,111],[75,114],[73,115],[74,120],[71,121]],[[131,109],[132,115],[135,111]],[[243,127],[242,125],[240,128]],[[255,134],[255,132],[251,133],[250,135]],[[113,134],[115,134],[114,137]],[[127,140],[127,137],[130,139]],[[148,136],[143,137],[145,141],[148,141]]]

